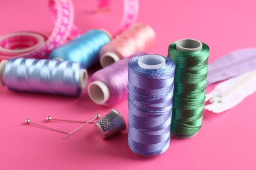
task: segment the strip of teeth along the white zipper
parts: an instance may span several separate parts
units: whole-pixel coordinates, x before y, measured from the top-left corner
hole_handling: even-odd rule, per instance
[[[242,86],[242,84],[244,84],[245,82],[247,82],[248,80],[250,80],[251,78],[253,78],[253,76],[256,75],[256,71],[253,71],[251,74],[245,76],[245,78],[243,78],[242,80],[240,80],[238,82],[238,84],[234,84],[234,86],[232,86],[232,88],[230,88],[227,92],[223,93],[223,94],[219,94],[216,95],[216,97],[221,98],[220,101],[223,101],[224,97],[226,97],[227,95],[229,95],[230,93],[232,93],[234,90],[236,90],[237,88],[239,88],[240,86]],[[213,97],[211,98],[213,99]],[[219,101],[219,102],[220,102]],[[213,102],[215,103],[215,102]]]

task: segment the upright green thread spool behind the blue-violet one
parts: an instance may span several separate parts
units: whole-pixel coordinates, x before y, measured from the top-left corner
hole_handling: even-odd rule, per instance
[[[168,56],[176,64],[171,133],[192,137],[202,126],[209,47],[182,39],[170,44]]]

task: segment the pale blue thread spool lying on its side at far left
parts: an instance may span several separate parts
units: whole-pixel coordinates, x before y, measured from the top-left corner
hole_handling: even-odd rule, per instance
[[[16,58],[1,61],[0,82],[10,90],[78,97],[87,71],[72,61]]]

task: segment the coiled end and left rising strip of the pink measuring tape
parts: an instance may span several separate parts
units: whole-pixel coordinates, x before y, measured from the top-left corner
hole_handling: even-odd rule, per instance
[[[66,41],[74,22],[72,1],[50,0],[49,8],[56,19],[49,38],[35,32],[7,33],[1,36],[0,61],[10,58],[48,58],[54,48]]]

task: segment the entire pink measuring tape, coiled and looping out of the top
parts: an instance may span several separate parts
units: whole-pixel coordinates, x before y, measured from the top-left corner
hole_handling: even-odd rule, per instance
[[[110,0],[99,0],[98,8],[111,5]],[[127,29],[137,19],[139,0],[123,0],[121,26],[114,35]],[[0,37],[0,61],[11,58],[48,58],[54,48],[64,44],[68,37],[74,39],[81,31],[74,25],[74,5],[72,0],[50,0],[49,9],[55,22],[53,32],[48,37],[42,33],[17,31]]]

